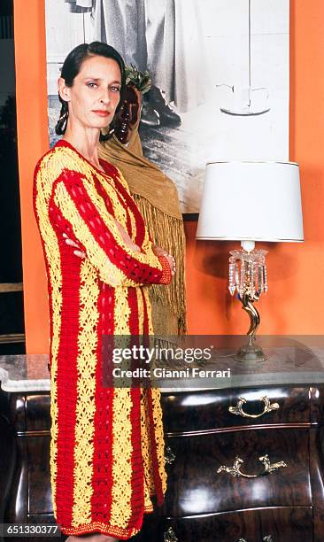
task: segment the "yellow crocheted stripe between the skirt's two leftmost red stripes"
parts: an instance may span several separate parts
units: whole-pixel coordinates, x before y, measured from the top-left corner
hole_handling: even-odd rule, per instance
[[[81,266],[78,337],[78,383],[75,422],[73,526],[91,522],[94,432],[96,414],[96,346],[99,288],[88,259]]]

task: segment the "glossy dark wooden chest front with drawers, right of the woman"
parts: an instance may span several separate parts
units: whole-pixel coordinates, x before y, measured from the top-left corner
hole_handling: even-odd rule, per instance
[[[323,540],[323,394],[320,386],[165,394],[168,489],[157,540]]]

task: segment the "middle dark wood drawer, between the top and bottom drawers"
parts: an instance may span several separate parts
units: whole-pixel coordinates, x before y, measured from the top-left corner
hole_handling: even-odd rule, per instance
[[[169,438],[165,513],[178,517],[254,507],[311,506],[308,445],[308,430],[303,429]],[[266,454],[271,465],[284,461],[287,467],[262,476],[266,460],[259,458]],[[217,472],[221,466],[234,467],[236,456],[243,460],[243,474],[258,476]]]

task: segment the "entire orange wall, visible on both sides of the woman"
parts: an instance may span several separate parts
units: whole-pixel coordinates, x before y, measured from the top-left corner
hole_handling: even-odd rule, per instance
[[[14,0],[19,175],[27,352],[48,350],[48,309],[41,244],[32,213],[37,159],[48,148],[42,0]],[[262,244],[269,292],[260,300],[260,333],[321,334],[324,289],[324,3],[290,0],[290,159],[301,166],[305,244]],[[244,333],[248,318],[227,290],[228,250],[195,241],[187,222],[190,333]]]

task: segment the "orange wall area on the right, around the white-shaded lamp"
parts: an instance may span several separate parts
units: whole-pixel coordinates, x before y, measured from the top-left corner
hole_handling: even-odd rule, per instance
[[[304,244],[258,244],[269,291],[258,303],[262,334],[324,333],[324,3],[290,0],[290,156],[301,166]],[[249,319],[227,290],[235,244],[188,238],[189,332],[245,333]],[[237,245],[236,245],[237,246]]]

